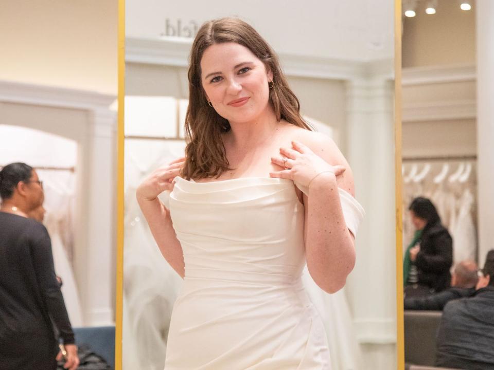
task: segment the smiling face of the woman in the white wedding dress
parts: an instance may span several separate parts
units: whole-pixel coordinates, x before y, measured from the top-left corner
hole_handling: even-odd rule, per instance
[[[249,122],[267,112],[272,80],[273,73],[242,45],[214,44],[202,55],[201,82],[207,99],[230,123]]]

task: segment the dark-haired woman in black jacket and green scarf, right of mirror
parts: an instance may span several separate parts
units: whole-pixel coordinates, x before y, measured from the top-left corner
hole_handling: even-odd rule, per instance
[[[451,235],[429,199],[415,198],[409,210],[416,231],[403,262],[406,293],[410,297],[442,291],[451,284]]]

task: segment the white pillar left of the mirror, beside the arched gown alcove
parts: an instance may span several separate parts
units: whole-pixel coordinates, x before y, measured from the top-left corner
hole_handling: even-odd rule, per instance
[[[91,152],[87,163],[91,171],[87,186],[87,237],[85,251],[85,324],[114,324],[115,279],[115,194],[116,161],[115,113],[108,109],[91,112],[93,127]]]

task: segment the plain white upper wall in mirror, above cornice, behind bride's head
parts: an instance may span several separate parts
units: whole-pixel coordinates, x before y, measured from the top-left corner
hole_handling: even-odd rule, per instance
[[[193,4],[193,5],[191,5]],[[240,16],[280,54],[371,61],[394,57],[392,0],[126,0],[126,35],[155,39],[176,24]]]

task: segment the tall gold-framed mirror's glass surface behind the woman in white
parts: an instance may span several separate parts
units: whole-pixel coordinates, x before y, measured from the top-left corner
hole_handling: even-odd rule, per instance
[[[184,282],[165,261],[136,201],[152,171],[186,145],[188,57],[203,22],[239,16],[279,55],[304,119],[348,160],[366,212],[344,289],[305,289],[324,322],[333,369],[396,367],[393,3],[126,3],[123,368],[162,369]],[[372,160],[369,160],[372,158]],[[160,195],[168,204],[169,192]],[[378,232],[377,232],[378,231]],[[201,307],[196,307],[200,311]],[[213,340],[212,338],[205,341]],[[363,365],[365,364],[365,366]]]

